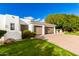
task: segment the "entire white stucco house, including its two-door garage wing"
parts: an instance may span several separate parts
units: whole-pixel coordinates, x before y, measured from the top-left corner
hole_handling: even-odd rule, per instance
[[[22,39],[22,31],[30,30],[36,32],[37,35],[55,34],[54,24],[34,21],[33,19],[20,18],[19,16],[4,14],[0,15],[0,30],[7,31],[4,39],[13,38],[15,40]]]

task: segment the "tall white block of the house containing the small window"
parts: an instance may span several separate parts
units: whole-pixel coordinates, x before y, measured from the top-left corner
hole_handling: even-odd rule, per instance
[[[13,38],[16,40],[21,39],[20,18],[14,15],[0,15],[0,30],[5,30],[7,33],[4,39]]]

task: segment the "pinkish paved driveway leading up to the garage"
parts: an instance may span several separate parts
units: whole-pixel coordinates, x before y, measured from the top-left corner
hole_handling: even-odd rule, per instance
[[[79,36],[64,34],[48,34],[44,36],[49,42],[54,43],[79,55]]]

